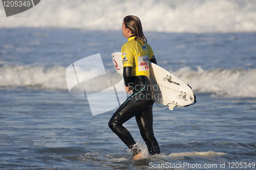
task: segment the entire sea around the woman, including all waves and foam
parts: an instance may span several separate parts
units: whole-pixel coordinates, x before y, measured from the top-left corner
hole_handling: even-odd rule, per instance
[[[239,0],[44,0],[5,17],[0,6],[0,168],[254,169],[255,7]],[[65,75],[98,53],[105,70],[115,71],[111,54],[126,42],[128,14],[141,18],[158,65],[197,96],[195,105],[173,111],[154,105],[160,155],[148,155],[135,118],[124,124],[145,154],[138,161],[108,127],[115,109],[92,116],[87,98],[69,94]]]

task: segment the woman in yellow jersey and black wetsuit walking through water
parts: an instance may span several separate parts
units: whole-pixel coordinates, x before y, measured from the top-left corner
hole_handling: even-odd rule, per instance
[[[150,67],[148,61],[156,64],[151,46],[146,42],[142,32],[140,19],[129,15],[124,17],[122,32],[128,40],[122,46],[123,79],[125,91],[132,93],[117,109],[110,119],[111,130],[132,150],[133,160],[143,158],[132,135],[122,125],[127,120],[136,117],[140,134],[151,155],[159,154],[160,148],[153,132],[153,104],[155,91],[149,79]]]

